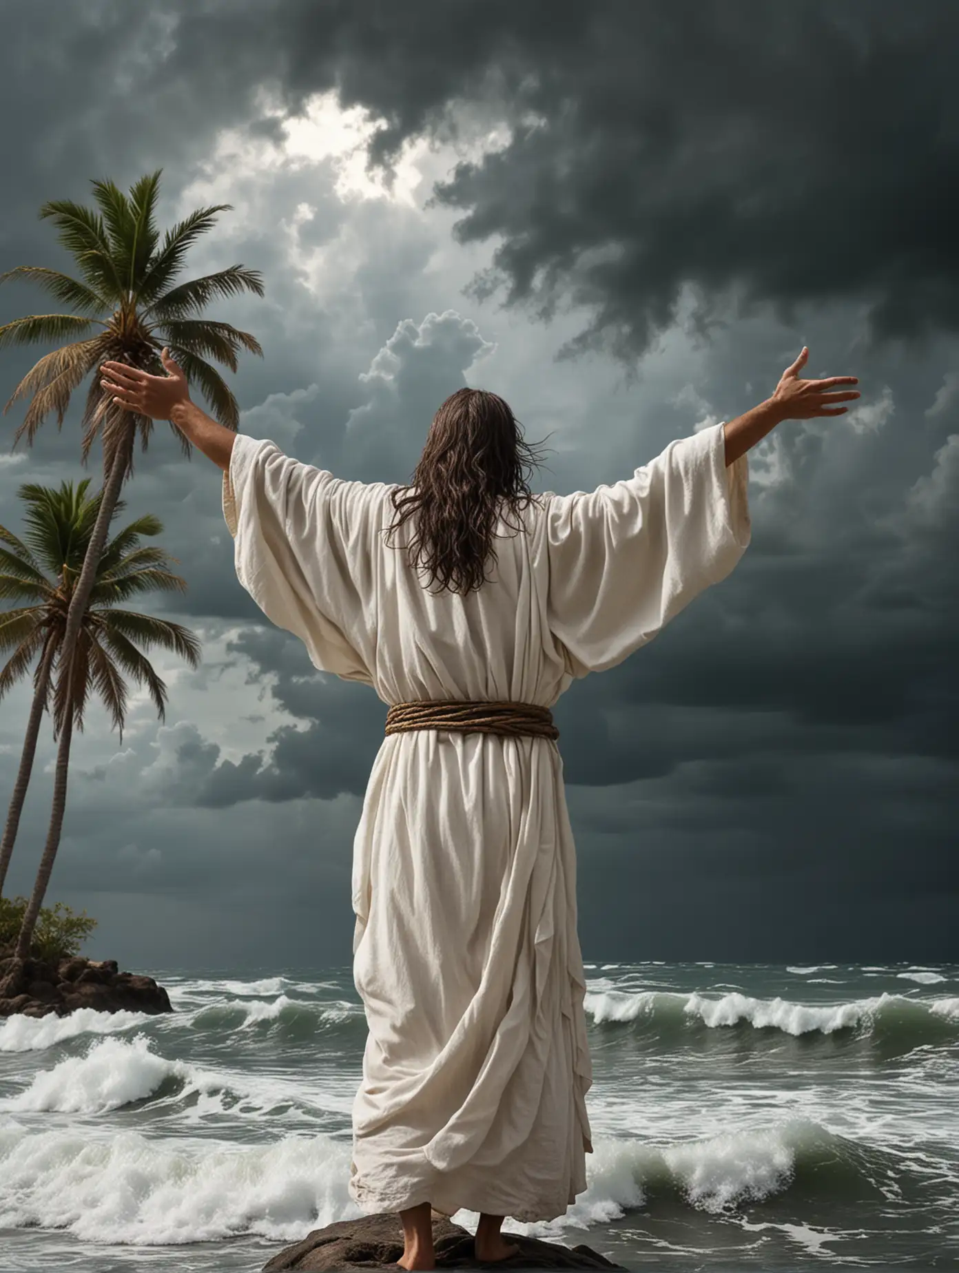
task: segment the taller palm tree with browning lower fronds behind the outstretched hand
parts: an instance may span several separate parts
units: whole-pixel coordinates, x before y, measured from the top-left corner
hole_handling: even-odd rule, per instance
[[[80,279],[38,265],[22,265],[0,274],[0,283],[13,278],[32,279],[75,311],[69,314],[29,314],[0,326],[0,349],[5,345],[82,337],[45,354],[14,390],[4,414],[17,398],[32,395],[31,405],[14,437],[14,446],[24,434],[28,443],[32,443],[37,429],[51,411],[56,411],[60,428],[73,391],[89,372],[94,372],[82,419],[82,458],[85,463],[99,433],[104,484],[97,522],[80,577],[73,589],[60,643],[60,693],[67,704],[67,713],[75,698],[70,677],[78,675],[80,682],[84,681],[80,670],[74,667],[74,656],[110,521],[124,480],[132,475],[134,443],[139,437],[141,449],[145,451],[153,428],[149,416],[113,402],[113,395],[101,387],[101,364],[107,360],[125,362],[162,376],[164,372],[159,351],[166,345],[183,368],[187,382],[199,386],[208,398],[214,416],[228,429],[236,430],[239,423],[237,401],[204,355],[217,359],[233,372],[237,369],[237,351],[241,346],[262,356],[260,342],[250,332],[199,317],[217,297],[236,295],[245,289],[262,295],[259,271],[233,265],[217,274],[172,285],[183,267],[190,246],[213,227],[217,213],[229,211],[232,205],[217,204],[197,209],[167,230],[160,244],[154,223],[160,172],[158,169],[141,177],[130,187],[129,197],[112,181],[94,181],[93,193],[99,211],[62,199],[41,207],[41,219],[53,218],[59,227],[60,242],[75,257]],[[97,327],[102,330],[90,335]],[[190,457],[188,438],[172,421],[171,428],[180,439],[183,453]],[[65,719],[62,737],[69,740],[70,728],[71,722]],[[69,742],[66,751],[69,754]],[[56,782],[62,782],[64,791],[66,789],[66,770],[61,777],[59,761]],[[47,853],[56,854],[60,836],[56,812],[59,803],[55,798],[45,861]]]

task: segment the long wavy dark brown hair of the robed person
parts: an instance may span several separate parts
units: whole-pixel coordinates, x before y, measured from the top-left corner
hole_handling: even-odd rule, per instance
[[[479,588],[487,559],[497,560],[501,500],[513,513],[536,500],[526,471],[539,463],[503,398],[487,390],[457,390],[433,416],[413,482],[391,494],[400,517],[387,531],[395,533],[418,513],[408,545],[413,564],[423,564],[429,583],[439,580],[439,591]]]

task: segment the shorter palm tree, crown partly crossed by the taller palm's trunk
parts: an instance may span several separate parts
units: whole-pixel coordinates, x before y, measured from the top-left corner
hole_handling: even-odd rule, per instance
[[[0,699],[25,676],[31,663],[37,659],[33,705],[0,845],[0,890],[27,794],[41,719],[47,709],[53,718],[53,740],[60,740],[51,819],[56,835],[51,834],[47,839],[33,895],[23,917],[14,966],[0,987],[0,997],[17,993],[23,961],[29,955],[33,929],[60,843],[73,728],[75,726],[83,731],[83,714],[90,690],[98,693],[110,710],[122,743],[127,701],[125,677],[132,677],[146,687],[160,721],[166,714],[166,685],[138,647],[149,649],[159,645],[173,651],[191,667],[196,667],[200,661],[200,643],[188,629],[166,619],[117,608],[118,603],[144,592],[182,592],[186,588],[186,580],[167,569],[172,559],[163,549],[140,546],[143,536],[159,535],[163,530],[162,523],[148,514],[136,518],[107,544],[97,561],[73,663],[59,658],[60,672],[53,679],[52,666],[57,656],[62,654],[67,617],[103,507],[102,491],[87,498],[89,482],[89,477],[84,479],[76,490],[69,481],[61,482],[59,490],[27,482],[18,491],[27,504],[27,530],[23,538],[0,526],[0,597],[25,602],[0,612],[0,651],[13,651],[0,670]],[[118,500],[113,507],[115,514],[124,507],[124,502]],[[71,666],[75,668],[74,676],[69,675]]]

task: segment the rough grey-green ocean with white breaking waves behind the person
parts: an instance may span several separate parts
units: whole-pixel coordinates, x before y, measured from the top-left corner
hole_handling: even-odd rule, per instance
[[[143,971],[172,1015],[0,1021],[1,1273],[253,1273],[357,1214],[352,969]],[[588,1188],[504,1232],[676,1273],[959,1269],[959,965],[586,975]]]

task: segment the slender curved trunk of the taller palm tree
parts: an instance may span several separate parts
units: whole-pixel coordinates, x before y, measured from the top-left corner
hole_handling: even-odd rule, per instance
[[[134,428],[132,418],[126,426],[126,437],[122,443],[117,446],[116,453],[113,456],[113,465],[110,470],[110,476],[103,486],[103,498],[101,499],[99,510],[97,513],[97,521],[93,527],[93,533],[90,535],[90,541],[87,545],[87,554],[83,559],[83,569],[80,570],[80,578],[76,580],[76,587],[74,588],[73,597],[70,598],[70,608],[66,612],[66,625],[64,631],[64,640],[60,647],[60,666],[62,668],[61,676],[66,677],[66,695],[65,695],[65,719],[64,728],[60,736],[60,747],[57,750],[56,757],[56,777],[53,779],[53,805],[50,811],[50,829],[47,831],[47,844],[43,849],[43,857],[39,861],[39,869],[37,871],[37,880],[33,885],[33,895],[31,896],[29,904],[23,917],[23,923],[20,924],[20,933],[17,938],[17,950],[14,951],[13,959],[8,964],[6,974],[0,983],[0,998],[13,997],[20,993],[20,987],[23,983],[23,967],[24,962],[29,959],[31,943],[33,941],[33,929],[37,927],[37,919],[39,918],[39,908],[43,905],[43,897],[47,891],[47,885],[50,883],[50,876],[53,871],[53,861],[56,858],[56,852],[60,848],[60,830],[64,825],[64,810],[66,807],[66,777],[70,765],[70,738],[73,736],[74,727],[74,712],[73,712],[73,676],[75,668],[74,653],[76,649],[76,642],[80,634],[80,624],[83,622],[83,616],[87,611],[87,603],[93,592],[93,584],[97,578],[97,566],[99,559],[103,554],[103,546],[107,542],[107,531],[110,530],[110,522],[113,517],[113,509],[116,508],[117,499],[120,498],[120,489],[124,485],[124,472],[126,470],[130,451],[134,444]]]

